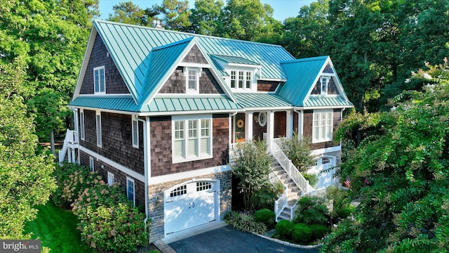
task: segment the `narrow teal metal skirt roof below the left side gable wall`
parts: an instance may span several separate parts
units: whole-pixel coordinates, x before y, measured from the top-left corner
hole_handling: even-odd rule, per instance
[[[139,107],[130,96],[80,96],[72,100],[69,106],[79,106],[83,108],[98,108],[105,110],[121,110],[128,112],[138,112]]]

